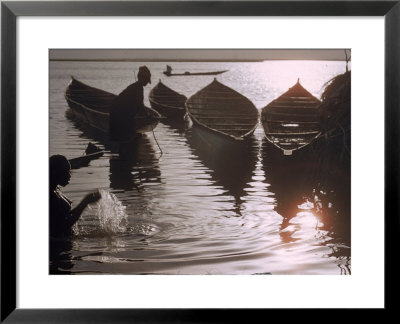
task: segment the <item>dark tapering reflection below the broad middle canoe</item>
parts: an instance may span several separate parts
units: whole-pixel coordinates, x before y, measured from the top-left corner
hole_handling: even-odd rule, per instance
[[[192,152],[211,172],[216,185],[227,191],[234,198],[235,213],[240,215],[246,188],[251,182],[257,157],[257,141],[250,137],[237,145],[230,145],[219,150],[208,145],[202,136],[202,129],[192,127],[187,131],[187,139]]]

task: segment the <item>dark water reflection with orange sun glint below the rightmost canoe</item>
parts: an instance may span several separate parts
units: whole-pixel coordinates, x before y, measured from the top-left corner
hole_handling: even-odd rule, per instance
[[[350,168],[328,152],[279,160],[268,145],[263,143],[263,168],[282,216],[282,244],[315,241],[342,274],[350,274]]]

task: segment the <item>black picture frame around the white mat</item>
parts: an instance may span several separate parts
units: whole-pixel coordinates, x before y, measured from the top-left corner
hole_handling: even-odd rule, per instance
[[[391,240],[399,222],[400,1],[132,1],[1,3],[1,322],[203,323],[261,318],[266,310],[18,309],[16,282],[16,19],[19,16],[384,16],[385,310],[398,286]],[[395,243],[394,243],[395,244]],[[367,284],[367,283],[366,283]],[[243,297],[243,296],[242,296]],[[272,311],[272,310],[270,310]]]

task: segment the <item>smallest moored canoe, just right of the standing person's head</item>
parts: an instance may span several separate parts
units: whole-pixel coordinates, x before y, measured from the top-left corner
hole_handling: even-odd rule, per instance
[[[161,80],[149,94],[151,107],[170,119],[183,119],[186,100],[186,96],[168,88]]]

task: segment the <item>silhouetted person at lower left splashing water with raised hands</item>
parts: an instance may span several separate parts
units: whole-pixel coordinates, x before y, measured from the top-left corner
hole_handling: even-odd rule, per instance
[[[72,201],[60,189],[71,179],[71,165],[63,155],[50,157],[50,237],[68,237],[72,234],[72,226],[81,216],[83,210],[101,196],[98,191],[87,194],[83,200],[71,210]]]

